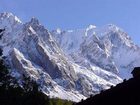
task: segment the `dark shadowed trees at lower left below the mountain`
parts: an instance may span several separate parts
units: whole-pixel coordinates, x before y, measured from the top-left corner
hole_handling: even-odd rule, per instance
[[[10,75],[0,49],[0,105],[72,105],[67,100],[50,99],[30,77],[18,80]]]

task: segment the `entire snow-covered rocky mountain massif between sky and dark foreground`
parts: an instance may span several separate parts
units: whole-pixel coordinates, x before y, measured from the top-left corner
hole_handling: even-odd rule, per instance
[[[140,48],[115,25],[49,31],[32,18],[0,14],[0,47],[12,76],[35,79],[50,97],[80,101],[130,78]]]

